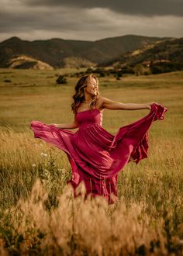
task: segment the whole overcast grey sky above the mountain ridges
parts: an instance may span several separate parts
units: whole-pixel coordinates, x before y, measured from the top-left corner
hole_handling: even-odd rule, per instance
[[[183,36],[183,0],[0,0],[0,41]]]

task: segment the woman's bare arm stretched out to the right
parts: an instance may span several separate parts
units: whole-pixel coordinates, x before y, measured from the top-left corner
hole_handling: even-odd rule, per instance
[[[150,102],[150,103],[144,103],[144,104],[122,103],[122,102],[112,101],[111,99],[102,98],[102,106],[105,109],[124,109],[124,110],[151,109],[151,105],[154,103],[156,102]]]

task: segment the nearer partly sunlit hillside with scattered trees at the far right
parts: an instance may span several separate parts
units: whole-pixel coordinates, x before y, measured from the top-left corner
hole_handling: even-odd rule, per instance
[[[135,67],[166,65],[175,70],[183,69],[183,38],[157,41],[126,54],[105,62],[102,66]],[[172,69],[171,68],[171,69]]]

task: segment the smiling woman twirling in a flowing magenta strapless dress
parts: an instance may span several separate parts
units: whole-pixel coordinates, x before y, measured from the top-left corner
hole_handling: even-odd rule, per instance
[[[136,164],[147,157],[148,130],[156,119],[164,119],[167,108],[150,102],[147,104],[121,103],[99,95],[98,78],[94,74],[81,77],[75,86],[74,122],[44,124],[32,121],[35,138],[54,144],[64,150],[71,164],[72,179],[67,181],[75,190],[84,182],[86,194],[104,196],[109,204],[117,199],[117,176],[129,163]],[[120,127],[112,135],[102,127],[104,109],[150,109],[149,114],[134,123]],[[68,129],[77,128],[74,133]]]

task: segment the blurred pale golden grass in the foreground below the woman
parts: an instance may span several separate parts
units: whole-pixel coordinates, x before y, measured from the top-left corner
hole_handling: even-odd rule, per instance
[[[70,186],[57,200],[57,208],[47,210],[48,194],[37,180],[29,199],[22,200],[5,216],[11,228],[6,238],[9,251],[44,255],[166,255],[164,220],[143,212],[143,203],[125,199],[108,206],[105,199],[74,199]],[[6,231],[7,232],[7,231]],[[177,240],[176,240],[177,239]],[[174,238],[178,244],[178,238]]]

